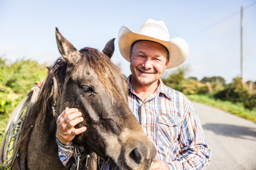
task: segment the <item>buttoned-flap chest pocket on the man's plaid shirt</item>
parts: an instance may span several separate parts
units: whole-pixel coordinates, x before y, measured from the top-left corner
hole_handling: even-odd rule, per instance
[[[180,117],[175,115],[158,115],[158,144],[170,147],[180,133]]]

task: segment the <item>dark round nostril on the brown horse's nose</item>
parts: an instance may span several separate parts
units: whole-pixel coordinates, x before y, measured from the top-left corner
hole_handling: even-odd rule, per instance
[[[135,148],[131,150],[130,152],[127,152],[125,155],[126,164],[129,167],[138,167],[142,163],[143,156],[138,148]]]

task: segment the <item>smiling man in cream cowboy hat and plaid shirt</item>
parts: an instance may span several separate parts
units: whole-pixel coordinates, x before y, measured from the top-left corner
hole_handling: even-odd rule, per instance
[[[183,94],[164,86],[160,80],[164,69],[186,60],[186,41],[169,40],[164,22],[149,19],[138,33],[121,27],[118,45],[122,56],[130,61],[132,72],[127,78],[129,106],[157,149],[158,162],[152,162],[151,169],[207,168],[211,151],[194,107]],[[86,127],[74,128],[83,121],[81,115],[78,109],[66,108],[58,117],[56,141],[64,165],[72,155],[72,139],[86,131]],[[176,147],[178,143],[180,150]],[[107,168],[107,163],[102,166]]]

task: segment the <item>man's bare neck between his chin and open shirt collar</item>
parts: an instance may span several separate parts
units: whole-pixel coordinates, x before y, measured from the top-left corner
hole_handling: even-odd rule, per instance
[[[135,80],[133,76],[131,76],[130,83],[132,84],[134,92],[138,94],[143,101],[145,101],[148,96],[153,94],[158,87],[158,81],[155,81],[149,85],[141,85]]]

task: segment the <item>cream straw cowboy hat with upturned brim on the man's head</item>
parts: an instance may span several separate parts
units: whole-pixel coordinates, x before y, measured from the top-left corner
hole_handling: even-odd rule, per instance
[[[149,40],[160,43],[169,51],[170,61],[166,69],[174,68],[188,57],[188,43],[182,38],[170,39],[169,32],[163,21],[147,20],[138,33],[122,26],[118,33],[118,46],[122,56],[130,62],[132,43],[138,40]]]

